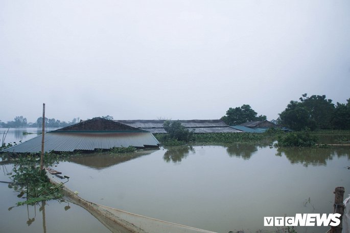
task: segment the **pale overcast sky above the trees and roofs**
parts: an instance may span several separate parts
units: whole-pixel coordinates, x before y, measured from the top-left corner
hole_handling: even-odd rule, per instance
[[[0,120],[276,119],[350,98],[350,1],[0,1]]]

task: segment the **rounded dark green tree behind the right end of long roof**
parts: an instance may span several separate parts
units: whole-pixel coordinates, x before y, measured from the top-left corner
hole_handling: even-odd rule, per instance
[[[243,104],[241,107],[228,108],[223,120],[227,125],[239,125],[249,121],[265,121],[266,115],[256,116],[256,113],[249,104]]]

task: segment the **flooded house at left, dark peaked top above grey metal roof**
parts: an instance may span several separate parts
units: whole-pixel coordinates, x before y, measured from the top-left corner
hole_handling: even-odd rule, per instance
[[[38,153],[41,151],[41,138],[39,135],[2,152]],[[80,122],[44,135],[44,152],[94,151],[129,146],[158,147],[159,142],[148,131],[103,118]]]

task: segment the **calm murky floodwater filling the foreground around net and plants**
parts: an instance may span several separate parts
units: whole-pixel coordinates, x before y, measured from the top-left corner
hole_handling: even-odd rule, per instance
[[[88,154],[55,169],[71,177],[67,187],[88,201],[217,232],[273,232],[277,227],[264,227],[264,217],[333,213],[334,189],[344,187],[344,198],[350,194],[347,166],[350,147],[277,150],[234,144]],[[9,181],[11,165],[0,169],[0,181]],[[0,192],[0,232],[109,232],[72,203],[68,208],[66,202],[49,201],[43,218],[39,205],[8,210],[20,199],[6,183],[0,183]]]

